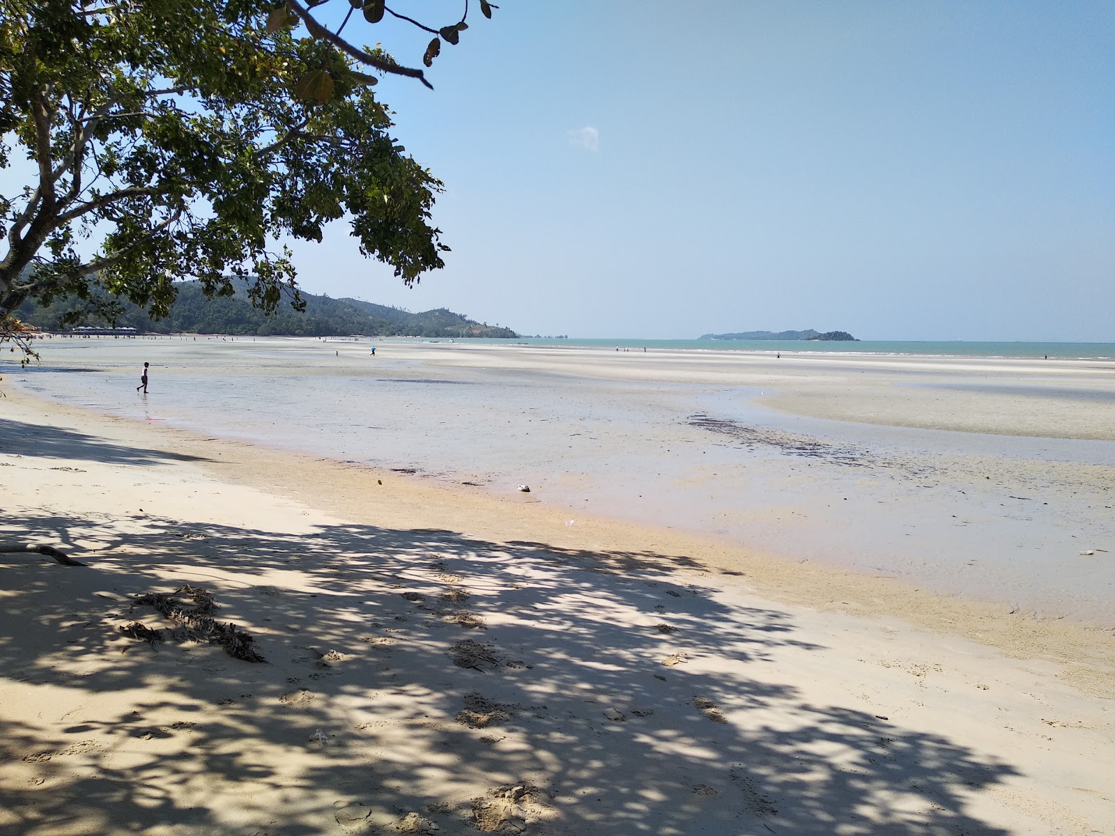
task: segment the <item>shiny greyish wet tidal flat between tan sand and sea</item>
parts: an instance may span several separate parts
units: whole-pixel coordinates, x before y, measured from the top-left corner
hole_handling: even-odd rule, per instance
[[[417,470],[497,500],[529,484],[526,499],[563,524],[671,526],[1111,625],[1115,444],[1103,439],[1115,389],[1087,363],[460,343],[385,347],[370,361],[319,340],[75,348],[12,379],[145,424]],[[157,393],[122,399],[140,359]],[[91,373],[50,373],[77,369]],[[1080,556],[1089,550],[1099,556]]]

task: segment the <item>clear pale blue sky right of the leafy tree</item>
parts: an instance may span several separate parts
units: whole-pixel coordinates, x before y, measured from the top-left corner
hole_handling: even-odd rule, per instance
[[[1109,2],[476,12],[434,91],[378,88],[446,183],[446,269],[407,290],[337,225],[307,290],[575,337],[1115,341]]]

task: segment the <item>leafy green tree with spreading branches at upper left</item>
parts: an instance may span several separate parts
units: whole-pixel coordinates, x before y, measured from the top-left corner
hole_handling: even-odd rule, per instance
[[[285,293],[300,308],[275,242],[320,241],[345,216],[405,283],[443,266],[442,183],[391,138],[363,69],[426,79],[329,30],[321,6],[0,0],[0,168],[22,152],[35,172],[0,195],[0,341],[26,299],[112,313],[105,300],[123,297],[161,317],[185,278],[220,295],[250,278],[253,304],[273,311]],[[429,29],[427,66],[467,11]],[[360,17],[388,12],[410,20],[378,0]]]

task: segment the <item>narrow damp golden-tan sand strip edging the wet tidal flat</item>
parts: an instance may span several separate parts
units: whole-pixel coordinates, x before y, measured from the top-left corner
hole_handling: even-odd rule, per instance
[[[188,430],[145,425],[29,392],[20,392],[18,397],[26,399],[25,404],[29,402],[32,409],[38,407],[48,416],[66,415],[75,424],[96,416],[98,422],[123,425],[137,434],[142,430],[144,440],[174,456],[196,459],[197,466],[217,480],[304,502],[341,518],[400,529],[446,527],[494,542],[525,537],[526,542],[571,553],[599,552],[629,570],[638,568],[640,554],[653,554],[676,568],[746,577],[750,591],[773,602],[822,612],[898,619],[915,629],[961,636],[1015,658],[1072,661],[1080,665],[1082,658],[1092,657],[1084,649],[1098,638],[1104,641],[1096,647],[1099,652],[1092,657],[1097,662],[1096,670],[1069,675],[1078,678],[1080,684],[1092,674],[1099,674],[1099,681],[1109,683],[1109,690],[1105,690],[1105,684],[1096,694],[1115,693],[1115,642],[1106,642],[1115,626],[1080,624],[1061,616],[1044,618],[1032,611],[1010,612],[1009,606],[998,601],[924,590],[880,573],[778,555],[668,526],[583,513],[575,526],[569,526],[563,509],[546,507],[529,494],[498,497],[389,468],[252,441],[203,438]],[[220,461],[206,457],[212,448],[220,451]],[[293,488],[292,480],[312,488]],[[372,496],[377,504],[369,511],[366,497]],[[1111,674],[1109,680],[1102,673],[1104,669]]]

